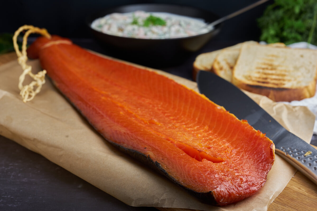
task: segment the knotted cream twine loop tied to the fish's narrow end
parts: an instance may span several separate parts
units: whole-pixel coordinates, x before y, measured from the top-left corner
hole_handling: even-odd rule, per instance
[[[19,50],[19,46],[17,44],[17,36],[24,30],[27,30],[23,36],[23,43],[22,43],[22,52]],[[23,102],[30,101],[41,91],[42,85],[45,83],[45,74],[46,70],[40,71],[37,74],[32,73],[32,67],[30,65],[27,65],[26,62],[28,60],[27,53],[26,53],[26,44],[27,44],[27,38],[31,33],[38,33],[42,34],[43,36],[47,38],[51,38],[51,35],[47,32],[46,29],[37,28],[34,26],[24,25],[16,32],[13,36],[13,46],[16,51],[16,55],[18,56],[18,63],[21,65],[23,69],[23,73],[19,77],[19,89],[20,95],[23,98]],[[29,75],[31,78],[33,78],[34,81],[32,81],[30,84],[23,86],[23,81],[25,79],[25,76]],[[36,89],[35,89],[36,87]]]

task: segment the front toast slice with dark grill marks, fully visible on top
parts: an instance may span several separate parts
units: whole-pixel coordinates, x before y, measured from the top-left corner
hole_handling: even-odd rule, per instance
[[[302,100],[316,91],[317,51],[243,44],[233,69],[237,87],[278,101]]]

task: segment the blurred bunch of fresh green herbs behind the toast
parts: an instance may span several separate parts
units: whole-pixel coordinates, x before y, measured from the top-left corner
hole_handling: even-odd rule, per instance
[[[258,20],[260,40],[317,45],[317,0],[275,0]]]

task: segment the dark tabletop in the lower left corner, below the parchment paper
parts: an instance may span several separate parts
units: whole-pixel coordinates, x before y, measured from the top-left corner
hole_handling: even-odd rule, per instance
[[[0,136],[0,210],[157,209],[128,206],[43,156]]]

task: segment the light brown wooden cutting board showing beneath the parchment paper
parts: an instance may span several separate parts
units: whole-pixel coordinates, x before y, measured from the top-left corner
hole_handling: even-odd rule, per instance
[[[0,65],[16,59],[16,53],[0,55]],[[317,148],[316,146],[314,146]],[[189,209],[157,208],[161,211],[186,211]],[[269,211],[316,210],[317,185],[302,173],[296,172],[281,194],[268,207]]]

